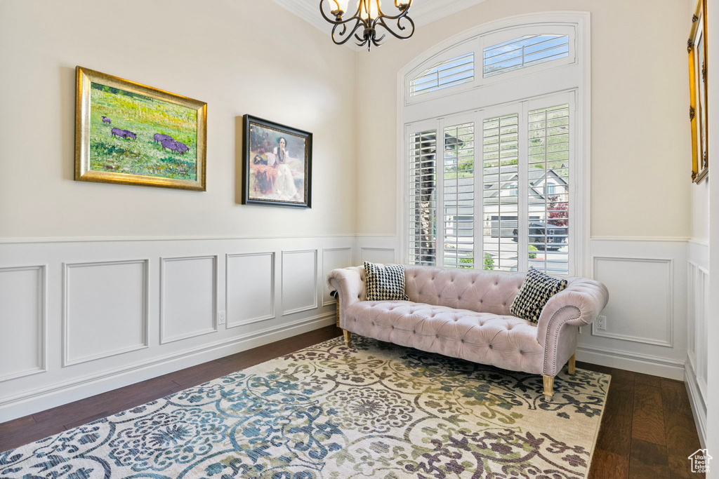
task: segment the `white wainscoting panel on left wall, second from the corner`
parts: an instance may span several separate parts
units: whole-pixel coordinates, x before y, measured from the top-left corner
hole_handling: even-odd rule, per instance
[[[282,252],[282,315],[317,307],[317,250]]]

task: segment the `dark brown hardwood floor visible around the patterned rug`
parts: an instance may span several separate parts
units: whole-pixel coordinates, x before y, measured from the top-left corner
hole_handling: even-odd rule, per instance
[[[0,451],[116,414],[182,389],[336,338],[334,326],[209,361],[0,424]],[[687,456],[700,448],[681,381],[577,362],[612,376],[590,479],[689,478]]]

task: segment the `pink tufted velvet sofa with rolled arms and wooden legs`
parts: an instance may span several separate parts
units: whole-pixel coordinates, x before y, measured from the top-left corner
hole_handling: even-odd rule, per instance
[[[549,299],[534,324],[509,309],[524,273],[404,266],[409,301],[366,301],[365,268],[334,269],[327,276],[339,297],[339,327],[368,338],[441,353],[498,368],[544,376],[551,397],[554,376],[569,361],[579,327],[589,325],[606,306],[600,282],[570,278]]]

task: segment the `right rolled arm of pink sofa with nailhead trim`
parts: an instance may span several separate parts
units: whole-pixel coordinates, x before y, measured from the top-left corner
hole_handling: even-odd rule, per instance
[[[537,323],[537,341],[544,345],[544,374],[556,376],[574,354],[576,334],[562,338],[563,332],[569,327],[590,325],[608,301],[607,287],[585,278],[573,279],[564,291],[549,298]]]

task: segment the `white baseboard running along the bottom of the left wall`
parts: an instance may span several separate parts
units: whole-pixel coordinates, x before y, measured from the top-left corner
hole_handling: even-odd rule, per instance
[[[248,332],[226,340],[198,346],[169,355],[152,358],[150,361],[134,363],[109,371],[73,378],[70,381],[51,386],[23,391],[21,394],[0,398],[0,422],[34,414],[38,411],[77,401],[95,394],[101,394],[129,384],[145,381],[162,374],[196,366],[226,355],[290,338],[294,335],[334,325],[335,312],[303,318],[283,325]],[[113,381],[110,383],[110,381]]]

